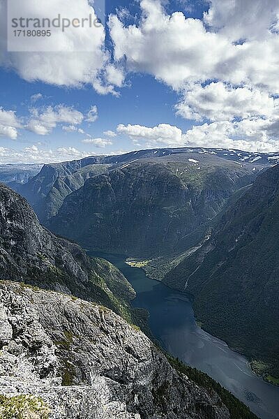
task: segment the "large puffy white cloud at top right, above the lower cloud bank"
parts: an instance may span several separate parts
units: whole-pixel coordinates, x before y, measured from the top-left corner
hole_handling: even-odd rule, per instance
[[[223,8],[227,25],[231,25],[231,34],[234,17],[229,15],[230,8],[223,3],[211,1],[206,22],[208,24],[210,20],[214,24],[213,16],[217,13],[214,10],[218,5],[220,10]],[[138,24],[126,26],[116,15],[110,17],[114,57],[119,61],[125,59],[128,71],[149,73],[178,91],[187,88],[189,83],[217,79],[278,93],[279,37],[268,30],[266,23],[277,13],[278,2],[225,0],[225,3],[236,5],[232,6],[232,13],[240,10],[243,25],[246,20],[250,22],[246,29],[251,36],[247,36],[246,42],[235,43],[223,27],[209,28],[206,22],[186,17],[181,12],[169,15],[159,0],[141,0],[142,18]],[[255,13],[250,14],[250,3],[256,3],[255,7],[251,6]],[[261,8],[265,8],[264,15],[269,17],[263,23],[265,36],[255,38],[252,31],[257,31],[258,22],[262,24],[258,16]],[[222,25],[222,20],[220,22]]]

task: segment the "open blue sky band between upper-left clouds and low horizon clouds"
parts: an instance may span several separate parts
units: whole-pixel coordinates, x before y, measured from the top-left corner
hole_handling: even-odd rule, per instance
[[[13,72],[0,72],[1,83],[1,105],[3,108],[17,110],[20,115],[28,115],[31,96],[43,94],[43,100],[36,105],[57,105],[63,103],[67,106],[74,105],[77,110],[86,113],[91,105],[98,107],[98,119],[93,124],[81,124],[82,128],[92,136],[98,138],[103,136],[103,131],[114,131],[119,124],[141,124],[144,126],[156,126],[166,123],[181,127],[184,131],[191,126],[191,122],[175,115],[174,105],[176,94],[169,87],[154,80],[151,75],[131,75],[129,86],[121,89],[119,97],[113,95],[101,96],[91,87],[83,89],[67,89],[55,87],[42,82],[29,83],[22,80]],[[33,144],[34,141],[46,142],[47,145],[77,146],[78,137],[75,134],[61,133],[61,128],[54,129],[51,135],[38,138],[35,133],[25,131],[21,138],[13,143],[13,147],[22,143]],[[117,140],[118,149],[130,149],[130,141],[121,136]],[[1,144],[10,145],[9,138],[1,138]],[[78,144],[81,149],[88,149],[86,145]],[[112,151],[115,145],[106,148]],[[102,152],[100,149],[93,149],[94,152]]]

